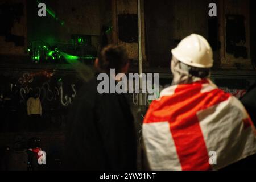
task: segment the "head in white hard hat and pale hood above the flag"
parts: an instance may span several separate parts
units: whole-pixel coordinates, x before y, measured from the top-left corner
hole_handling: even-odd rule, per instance
[[[210,76],[213,52],[210,44],[201,35],[191,34],[172,49],[171,71],[173,85],[186,84]]]

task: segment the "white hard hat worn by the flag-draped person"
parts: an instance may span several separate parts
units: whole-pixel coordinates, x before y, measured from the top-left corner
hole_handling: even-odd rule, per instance
[[[171,52],[177,60],[192,67],[210,68],[213,66],[212,48],[201,35],[187,36]]]

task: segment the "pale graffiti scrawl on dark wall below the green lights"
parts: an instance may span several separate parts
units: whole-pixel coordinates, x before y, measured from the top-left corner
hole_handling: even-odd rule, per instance
[[[62,78],[52,78],[53,75],[52,72],[23,73],[18,78],[18,83],[11,82],[9,84],[10,91],[18,94],[19,102],[23,104],[26,104],[26,100],[32,92],[36,92],[43,104],[59,101],[61,106],[69,106],[76,96],[76,84],[73,82],[66,84]],[[36,77],[43,77],[43,79],[39,81],[36,80]],[[52,79],[57,80],[52,81]],[[65,93],[64,85],[69,90],[69,94]]]

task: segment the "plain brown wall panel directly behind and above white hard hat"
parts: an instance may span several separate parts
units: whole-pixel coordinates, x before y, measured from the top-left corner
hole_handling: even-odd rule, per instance
[[[208,38],[207,1],[145,1],[147,59],[152,67],[169,67],[171,49],[192,33]]]

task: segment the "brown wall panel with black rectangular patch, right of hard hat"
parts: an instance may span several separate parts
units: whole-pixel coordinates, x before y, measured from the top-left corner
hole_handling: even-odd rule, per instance
[[[253,69],[250,52],[250,1],[220,1],[221,68]]]

